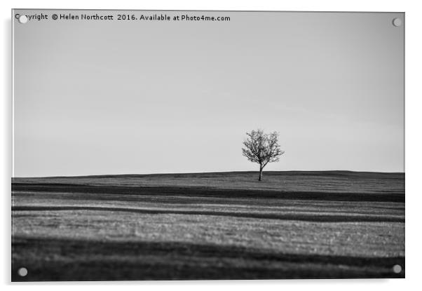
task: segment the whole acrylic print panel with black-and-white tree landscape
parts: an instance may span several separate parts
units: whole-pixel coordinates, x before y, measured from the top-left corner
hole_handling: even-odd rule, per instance
[[[12,12],[13,281],[404,278],[404,13]]]

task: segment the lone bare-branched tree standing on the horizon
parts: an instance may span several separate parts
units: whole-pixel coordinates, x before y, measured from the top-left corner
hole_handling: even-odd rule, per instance
[[[264,133],[263,130],[252,130],[246,133],[247,138],[242,148],[243,156],[254,163],[259,163],[259,181],[262,180],[262,170],[267,163],[278,162],[280,156],[285,152],[280,149],[278,144],[278,133]]]

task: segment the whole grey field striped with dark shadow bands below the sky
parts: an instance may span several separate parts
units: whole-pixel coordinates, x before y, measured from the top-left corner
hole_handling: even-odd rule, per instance
[[[12,198],[12,280],[404,278],[404,173],[13,178]]]

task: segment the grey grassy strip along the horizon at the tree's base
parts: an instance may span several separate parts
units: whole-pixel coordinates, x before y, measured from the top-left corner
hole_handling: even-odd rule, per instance
[[[257,172],[13,178],[13,182],[122,187],[210,187],[287,192],[404,193],[404,173],[348,171],[264,172],[262,183],[257,181]]]

